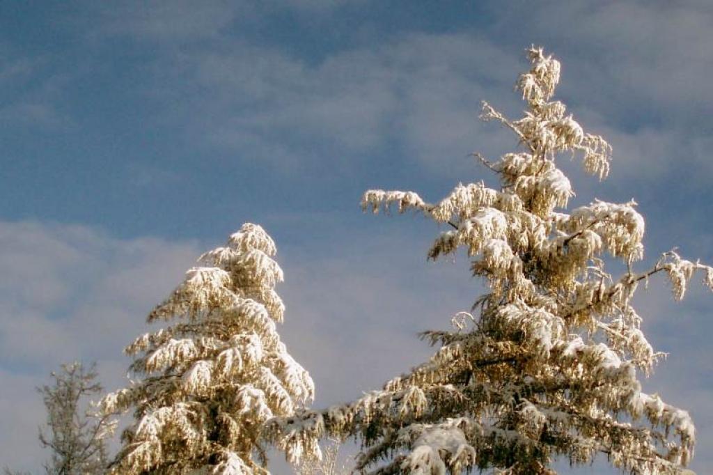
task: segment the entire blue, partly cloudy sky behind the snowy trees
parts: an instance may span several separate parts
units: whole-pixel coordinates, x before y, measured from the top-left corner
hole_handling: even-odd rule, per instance
[[[642,269],[672,247],[713,262],[711,24],[708,0],[1,1],[0,467],[39,473],[35,387],[73,360],[122,387],[145,315],[245,222],[277,242],[280,333],[315,407],[423,361],[416,332],[448,327],[481,282],[462,257],[426,262],[434,223],[363,214],[361,193],[495,183],[469,154],[516,141],[480,103],[520,115],[530,44],[614,149],[602,183],[565,160],[571,205],[635,198]],[[645,389],[690,410],[705,473],[713,295],[673,302],[652,280],[637,302],[670,353]]]

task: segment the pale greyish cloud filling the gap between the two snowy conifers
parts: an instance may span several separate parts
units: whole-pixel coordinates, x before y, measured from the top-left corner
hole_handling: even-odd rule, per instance
[[[472,304],[463,263],[426,262],[425,249],[402,238],[283,265],[284,340],[312,372],[320,406],[379,389],[423,362],[431,348],[417,332],[448,327]]]

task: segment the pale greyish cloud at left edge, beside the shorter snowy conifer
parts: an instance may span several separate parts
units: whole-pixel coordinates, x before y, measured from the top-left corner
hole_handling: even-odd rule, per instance
[[[83,226],[0,223],[0,461],[39,469],[34,388],[62,362],[100,361],[120,384],[121,350],[195,260],[193,243],[118,240]],[[121,368],[121,369],[120,369]],[[117,371],[117,369],[120,369]]]

